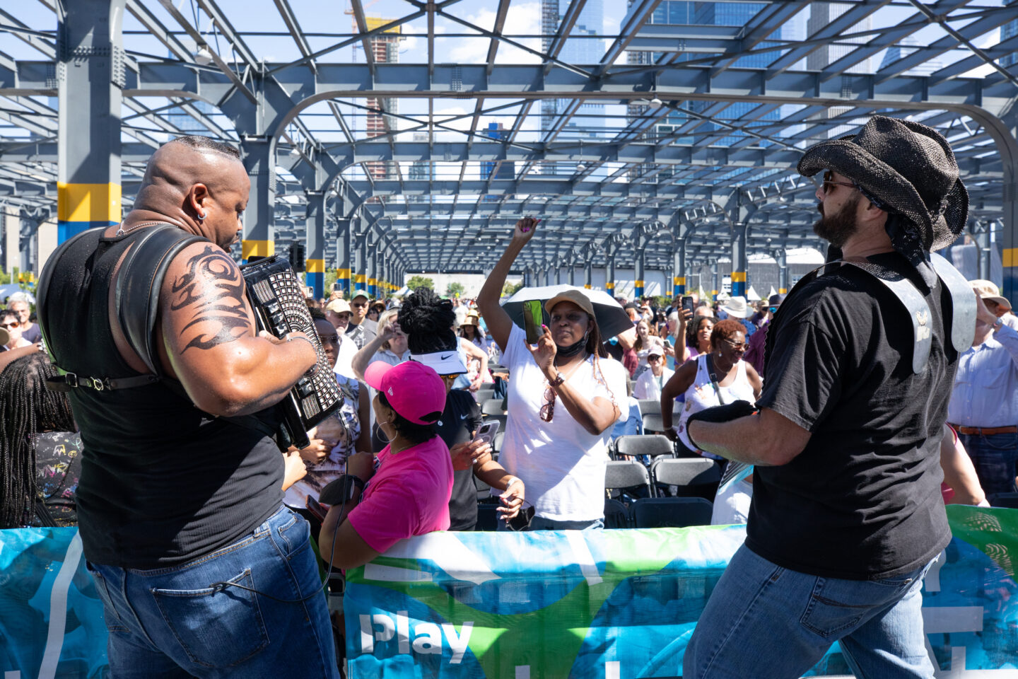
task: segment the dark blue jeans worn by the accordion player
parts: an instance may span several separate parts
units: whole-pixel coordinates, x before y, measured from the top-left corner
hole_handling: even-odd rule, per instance
[[[134,570],[88,564],[103,600],[116,679],[334,679],[336,647],[307,521],[286,507],[189,563]],[[236,582],[283,603],[238,587]]]

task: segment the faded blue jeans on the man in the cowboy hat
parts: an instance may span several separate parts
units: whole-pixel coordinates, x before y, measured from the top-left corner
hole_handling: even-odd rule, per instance
[[[743,545],[696,623],[683,679],[793,679],[835,641],[859,679],[932,679],[920,610],[927,568],[886,580],[817,577]]]

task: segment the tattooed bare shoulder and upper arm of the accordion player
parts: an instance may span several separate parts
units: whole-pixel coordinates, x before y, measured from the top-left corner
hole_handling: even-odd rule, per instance
[[[240,268],[214,243],[191,243],[174,258],[161,301],[174,353],[211,349],[252,334]]]

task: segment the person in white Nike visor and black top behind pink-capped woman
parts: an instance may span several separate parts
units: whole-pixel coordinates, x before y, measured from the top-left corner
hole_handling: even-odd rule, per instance
[[[473,530],[477,523],[477,491],[473,476],[493,489],[503,491],[504,506],[498,512],[509,521],[523,504],[523,483],[507,472],[492,458],[492,447],[473,441],[484,419],[480,408],[469,392],[452,389],[466,372],[459,353],[459,338],[453,332],[456,313],[452,302],[421,288],[403,300],[399,326],[407,336],[410,360],[435,370],[446,386],[446,406],[438,420],[438,434],[452,455],[453,487],[449,498],[449,529]]]

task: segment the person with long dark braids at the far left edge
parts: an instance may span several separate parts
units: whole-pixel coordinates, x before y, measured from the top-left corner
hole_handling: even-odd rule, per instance
[[[77,523],[81,439],[67,395],[46,388],[56,375],[45,353],[0,373],[0,528]]]

